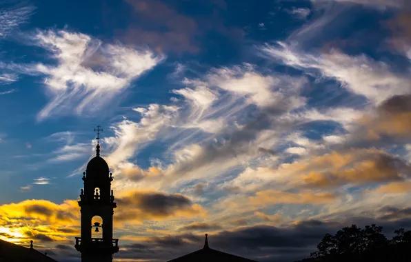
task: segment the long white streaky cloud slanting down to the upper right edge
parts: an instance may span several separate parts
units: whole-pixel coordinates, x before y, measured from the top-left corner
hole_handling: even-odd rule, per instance
[[[287,66],[307,72],[318,70],[323,77],[339,81],[352,94],[363,96],[373,103],[378,104],[395,94],[411,91],[409,77],[394,74],[387,63],[374,61],[365,54],[350,57],[332,50],[314,56],[280,42],[277,46],[265,45],[261,50],[270,59],[282,61]]]

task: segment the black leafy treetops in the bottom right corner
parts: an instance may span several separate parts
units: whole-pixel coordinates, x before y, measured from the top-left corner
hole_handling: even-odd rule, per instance
[[[394,231],[392,239],[383,234],[383,227],[375,224],[358,228],[345,227],[334,235],[325,234],[317,251],[304,262],[324,261],[409,261],[411,257],[411,231]],[[405,259],[405,260],[404,260]]]

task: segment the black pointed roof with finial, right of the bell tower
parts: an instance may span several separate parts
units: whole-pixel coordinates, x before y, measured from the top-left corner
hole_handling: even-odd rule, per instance
[[[245,259],[241,256],[234,256],[218,250],[213,250],[208,246],[208,234],[206,234],[206,241],[201,250],[194,251],[190,254],[180,256],[177,259],[172,259],[168,262],[208,262],[208,261],[232,261],[232,262],[257,262],[251,259]]]

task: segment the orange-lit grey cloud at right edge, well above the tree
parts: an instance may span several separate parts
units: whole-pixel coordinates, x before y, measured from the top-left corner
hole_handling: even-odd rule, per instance
[[[299,173],[294,183],[315,188],[399,181],[403,179],[403,172],[410,170],[410,166],[399,159],[375,149],[332,152],[288,168]]]

